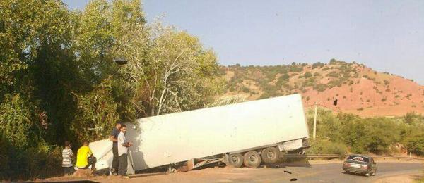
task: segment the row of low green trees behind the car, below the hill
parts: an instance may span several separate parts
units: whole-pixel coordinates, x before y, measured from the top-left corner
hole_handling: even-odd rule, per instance
[[[307,112],[310,134],[314,112]],[[396,154],[401,151],[424,156],[424,116],[407,113],[398,118],[360,118],[319,109],[317,139],[309,153]]]

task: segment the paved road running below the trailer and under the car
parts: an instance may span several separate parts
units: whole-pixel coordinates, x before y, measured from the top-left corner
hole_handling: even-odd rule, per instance
[[[377,163],[371,177],[341,173],[341,163],[288,165],[281,168],[206,168],[168,175],[131,178],[131,182],[373,182],[382,177],[420,173],[423,163]],[[290,181],[290,179],[296,179]]]

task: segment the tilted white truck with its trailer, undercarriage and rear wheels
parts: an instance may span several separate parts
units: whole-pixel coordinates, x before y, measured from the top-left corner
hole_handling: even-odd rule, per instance
[[[309,137],[300,94],[141,118],[126,123],[129,172],[172,165],[190,170],[223,161],[257,168],[282,151],[302,151]],[[112,165],[112,142],[90,144],[96,168]],[[183,166],[184,165],[184,166]]]

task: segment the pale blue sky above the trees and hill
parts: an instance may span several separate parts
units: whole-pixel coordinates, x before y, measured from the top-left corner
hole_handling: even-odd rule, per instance
[[[88,0],[64,0],[83,10]],[[424,84],[424,1],[145,0],[148,22],[161,16],[199,37],[222,65],[363,63]]]

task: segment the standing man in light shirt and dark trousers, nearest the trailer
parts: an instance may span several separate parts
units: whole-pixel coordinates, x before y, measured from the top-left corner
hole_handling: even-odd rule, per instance
[[[118,154],[119,154],[119,168],[118,174],[126,176],[126,170],[128,168],[128,148],[132,146],[132,143],[126,139],[126,125],[121,125],[121,132],[118,135]]]

